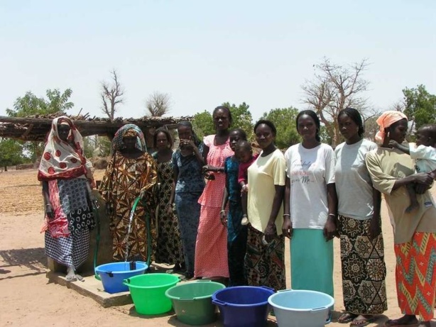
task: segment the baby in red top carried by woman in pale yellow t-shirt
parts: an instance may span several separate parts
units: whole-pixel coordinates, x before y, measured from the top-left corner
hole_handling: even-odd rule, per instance
[[[253,149],[251,149],[250,143],[246,140],[240,140],[236,143],[234,154],[239,160],[238,183],[241,186],[242,211],[244,212],[241,225],[247,225],[249,223],[247,216],[247,192],[249,192],[247,171],[258,155],[253,155]]]

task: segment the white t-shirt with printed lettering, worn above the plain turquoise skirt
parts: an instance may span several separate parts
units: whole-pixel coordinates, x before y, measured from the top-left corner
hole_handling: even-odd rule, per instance
[[[293,228],[322,229],[327,221],[327,184],[334,183],[334,152],[321,143],[303,148],[301,143],[285,153],[290,179],[290,218]]]

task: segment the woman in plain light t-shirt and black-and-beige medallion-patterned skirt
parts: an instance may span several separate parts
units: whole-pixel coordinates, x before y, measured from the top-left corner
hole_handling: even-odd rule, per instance
[[[372,186],[365,164],[366,153],[375,150],[377,145],[364,139],[364,123],[356,109],[340,111],[337,122],[345,138],[345,142],[334,150],[345,306],[338,322],[366,326],[374,320],[374,315],[388,309],[381,194]],[[361,292],[362,285],[372,291]]]

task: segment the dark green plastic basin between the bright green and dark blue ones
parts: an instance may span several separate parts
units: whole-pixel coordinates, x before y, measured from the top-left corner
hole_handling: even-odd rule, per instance
[[[165,295],[171,299],[175,314],[182,323],[206,325],[217,320],[217,307],[212,304],[212,294],[224,288],[217,282],[198,280],[171,287]]]

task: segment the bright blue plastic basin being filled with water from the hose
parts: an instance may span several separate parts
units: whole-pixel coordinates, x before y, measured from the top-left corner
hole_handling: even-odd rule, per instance
[[[134,265],[134,269],[131,269]],[[133,267],[133,266],[132,266]],[[123,284],[124,279],[143,274],[148,269],[146,262],[112,262],[95,267],[95,273],[102,280],[106,292],[114,294],[129,291]]]

